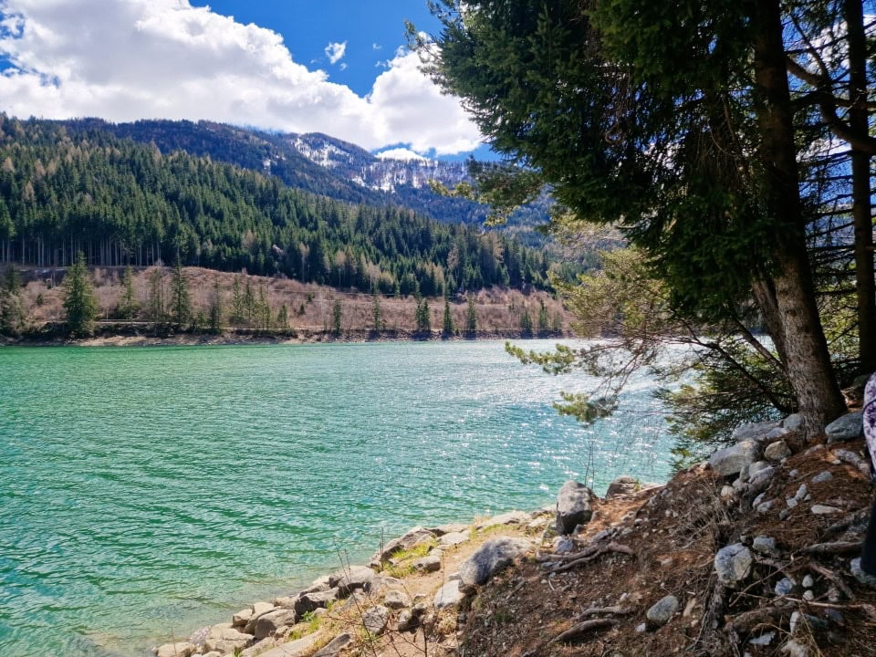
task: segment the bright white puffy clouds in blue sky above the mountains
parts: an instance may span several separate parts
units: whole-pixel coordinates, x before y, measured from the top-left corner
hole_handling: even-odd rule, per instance
[[[0,56],[0,110],[23,118],[207,119],[438,154],[480,143],[412,53],[361,97],[295,62],[276,32],[188,0],[0,0]]]

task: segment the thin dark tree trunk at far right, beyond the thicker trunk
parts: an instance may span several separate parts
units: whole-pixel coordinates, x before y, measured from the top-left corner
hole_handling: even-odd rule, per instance
[[[867,110],[867,39],[861,0],[842,7],[849,40],[849,110],[851,130],[869,135]],[[851,146],[851,214],[855,222],[855,281],[858,292],[860,368],[876,370],[876,285],[873,280],[873,220],[870,214],[870,155]]]

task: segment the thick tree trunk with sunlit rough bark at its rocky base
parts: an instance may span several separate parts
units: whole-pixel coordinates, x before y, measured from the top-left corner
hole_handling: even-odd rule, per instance
[[[830,365],[827,340],[815,303],[799,193],[790,93],[782,42],[779,0],[747,4],[754,29],[758,156],[764,171],[767,211],[781,231],[774,259],[776,301],[787,371],[803,415],[807,436],[845,412],[845,402]]]

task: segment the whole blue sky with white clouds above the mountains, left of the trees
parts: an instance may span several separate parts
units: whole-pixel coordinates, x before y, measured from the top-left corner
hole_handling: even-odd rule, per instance
[[[488,154],[404,49],[425,0],[0,0],[0,111],[216,120],[370,151]]]

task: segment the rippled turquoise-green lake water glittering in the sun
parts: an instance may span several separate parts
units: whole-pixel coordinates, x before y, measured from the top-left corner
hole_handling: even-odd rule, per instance
[[[0,349],[0,654],[150,654],[381,534],[664,480],[650,386],[584,428],[501,342]]]

